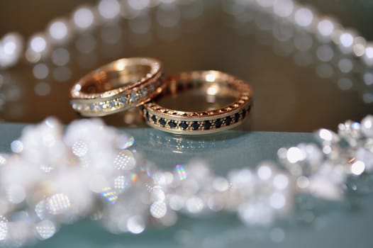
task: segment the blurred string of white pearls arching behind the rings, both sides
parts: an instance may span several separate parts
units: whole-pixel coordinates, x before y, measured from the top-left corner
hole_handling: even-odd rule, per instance
[[[31,35],[26,42],[18,33],[4,35],[0,39],[0,69],[13,67],[22,59],[32,64],[38,63],[50,57],[53,47],[66,45],[75,34],[88,32],[104,23],[117,21],[119,18],[133,19],[143,11],[160,4],[187,4],[190,1],[192,0],[101,0],[96,6],[79,6],[71,16],[56,18],[50,22],[45,31]],[[312,47],[312,40],[308,38],[308,35],[314,34],[321,43],[314,52],[323,62],[318,67],[318,74],[321,77],[328,77],[330,73],[333,73],[333,68],[328,64],[333,62],[333,48],[328,44],[333,43],[338,47],[339,52],[345,55],[335,62],[337,63],[335,66],[345,74],[345,77],[341,77],[338,81],[340,88],[350,89],[352,87],[352,80],[348,76],[350,73],[358,74],[359,81],[364,81],[366,88],[372,88],[373,45],[356,30],[343,28],[335,19],[321,16],[315,9],[297,4],[292,0],[230,0],[222,1],[222,4],[224,9],[233,14],[238,21],[252,18],[253,15],[250,16],[250,13],[253,9],[260,13],[267,13],[277,23],[273,27],[274,38],[283,43],[294,35],[294,31],[286,25],[291,23],[296,26],[303,33],[294,36],[294,45],[304,55]],[[247,7],[251,11],[247,10]],[[258,25],[266,29],[267,22],[264,21]],[[353,57],[352,60],[349,56]],[[295,60],[304,64],[309,57],[299,56]],[[363,98],[364,102],[371,103],[373,93],[367,91]]]

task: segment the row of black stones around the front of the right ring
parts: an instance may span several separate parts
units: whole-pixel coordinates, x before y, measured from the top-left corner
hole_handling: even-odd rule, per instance
[[[144,117],[147,122],[157,125],[161,128],[184,131],[201,131],[228,127],[235,123],[239,123],[250,113],[251,106],[244,108],[242,111],[228,115],[224,118],[216,118],[214,120],[201,121],[186,121],[186,120],[172,120],[153,115],[144,109]]]

